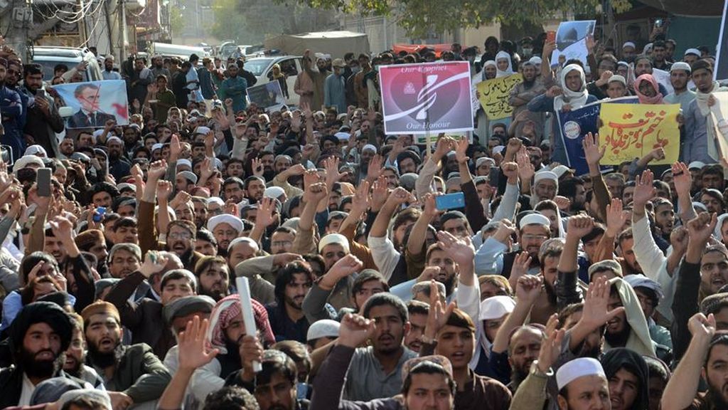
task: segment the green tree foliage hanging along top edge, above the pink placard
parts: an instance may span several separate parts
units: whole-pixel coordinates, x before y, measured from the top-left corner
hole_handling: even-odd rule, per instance
[[[277,2],[285,0],[274,0]],[[545,18],[561,12],[595,11],[600,0],[298,0],[317,9],[336,9],[352,15],[386,15],[414,38],[424,38],[430,32],[477,28],[499,21],[511,26],[540,24]],[[613,3],[629,8],[629,0]]]

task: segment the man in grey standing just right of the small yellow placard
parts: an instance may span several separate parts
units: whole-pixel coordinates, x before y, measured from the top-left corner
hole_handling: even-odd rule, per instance
[[[529,111],[529,101],[534,99],[536,96],[544,93],[546,88],[543,82],[536,81],[539,71],[536,69],[536,65],[531,61],[526,61],[521,64],[523,67],[523,82],[518,83],[510,91],[508,98],[508,104],[513,107],[513,119],[518,117],[518,125],[515,127],[515,135],[521,135],[521,129],[526,122],[531,121],[534,123],[534,129],[537,130],[537,140],[531,141],[532,144],[537,145],[541,141],[541,134],[543,130],[543,124],[545,116],[542,112],[531,112]],[[521,112],[526,114],[521,115]]]

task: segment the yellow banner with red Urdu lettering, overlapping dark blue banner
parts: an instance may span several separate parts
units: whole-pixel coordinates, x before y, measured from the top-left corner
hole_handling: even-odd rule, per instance
[[[601,163],[618,165],[657,147],[665,149],[665,159],[651,165],[675,162],[680,155],[679,112],[680,104],[602,104],[599,145],[606,152]]]

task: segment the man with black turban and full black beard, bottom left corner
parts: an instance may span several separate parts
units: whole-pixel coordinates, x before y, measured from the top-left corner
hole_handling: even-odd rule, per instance
[[[9,332],[13,364],[0,369],[0,408],[28,406],[36,386],[52,377],[66,377],[85,386],[61,370],[72,331],[68,314],[55,303],[31,303],[17,314]]]

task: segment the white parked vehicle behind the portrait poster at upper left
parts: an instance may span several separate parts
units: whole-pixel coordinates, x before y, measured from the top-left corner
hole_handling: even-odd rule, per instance
[[[68,69],[73,69],[81,61],[86,61],[88,66],[84,71],[84,81],[100,81],[101,68],[96,61],[96,56],[84,48],[74,47],[41,47],[32,49],[31,62],[40,64],[43,67],[43,79],[50,82],[53,79],[53,69],[58,64],[66,64]]]

